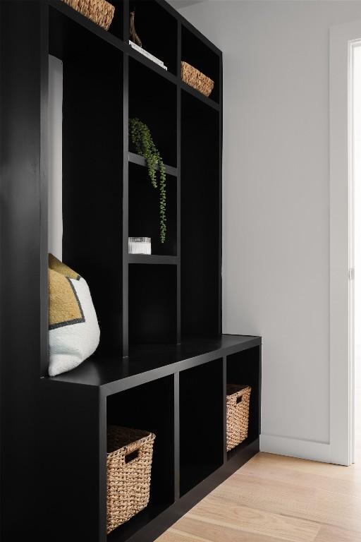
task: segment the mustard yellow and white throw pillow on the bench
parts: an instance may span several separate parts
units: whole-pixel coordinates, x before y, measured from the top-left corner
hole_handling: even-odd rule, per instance
[[[78,367],[99,344],[100,330],[85,280],[49,254],[49,375]]]

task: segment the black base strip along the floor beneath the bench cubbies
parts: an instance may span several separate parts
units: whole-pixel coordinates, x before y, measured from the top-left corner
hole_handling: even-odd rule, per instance
[[[197,484],[194,488],[185,493],[181,498],[176,500],[173,505],[161,512],[157,517],[154,517],[147,525],[140,528],[133,536],[125,538],[121,531],[117,529],[108,536],[109,542],[149,542],[156,540],[164,531],[169,529],[174,523],[181,519],[189,510],[194,507],[197,502],[200,502],[220,483],[224,482],[229,476],[237,471],[241,466],[247,463],[252,457],[259,452],[259,438],[255,438],[247,443],[242,449],[238,450],[231,461],[220,466],[207,478]]]

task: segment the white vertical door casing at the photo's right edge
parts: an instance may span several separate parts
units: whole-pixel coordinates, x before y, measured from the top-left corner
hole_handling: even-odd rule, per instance
[[[330,459],[355,461],[355,51],[361,21],[330,30]]]

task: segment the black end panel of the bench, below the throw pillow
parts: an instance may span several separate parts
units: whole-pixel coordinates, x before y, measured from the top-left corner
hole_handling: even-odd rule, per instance
[[[43,538],[104,541],[106,414],[97,388],[42,383]],[[54,529],[56,526],[56,529]]]

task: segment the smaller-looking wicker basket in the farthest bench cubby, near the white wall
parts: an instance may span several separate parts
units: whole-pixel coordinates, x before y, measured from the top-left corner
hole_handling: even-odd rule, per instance
[[[227,451],[243,442],[248,435],[250,386],[227,385]]]

